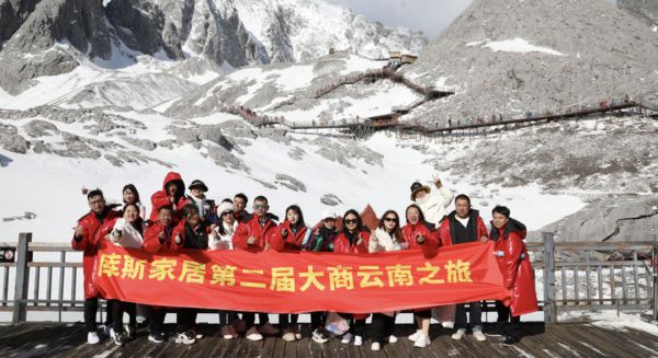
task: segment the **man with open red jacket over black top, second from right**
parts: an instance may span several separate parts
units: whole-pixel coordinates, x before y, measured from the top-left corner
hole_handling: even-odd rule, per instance
[[[479,216],[479,211],[470,207],[470,198],[465,194],[460,194],[455,198],[455,210],[441,221],[439,228],[439,238],[441,246],[450,246],[467,242],[486,243],[489,233],[485,221]],[[468,321],[466,321],[465,303],[460,303],[455,308],[453,339],[462,339],[466,334],[468,322],[473,328],[473,336],[477,340],[487,340],[483,333],[483,310],[480,302],[467,302]]]

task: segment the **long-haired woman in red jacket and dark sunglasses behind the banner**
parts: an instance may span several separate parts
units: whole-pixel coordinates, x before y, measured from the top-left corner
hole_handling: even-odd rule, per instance
[[[363,227],[361,216],[354,209],[350,209],[343,216],[343,230],[333,240],[333,252],[341,254],[367,254],[370,242],[370,230]],[[354,336],[354,346],[363,345],[365,333],[365,320],[370,314],[338,313],[345,320],[353,320],[350,331],[342,336],[341,343],[349,344]]]

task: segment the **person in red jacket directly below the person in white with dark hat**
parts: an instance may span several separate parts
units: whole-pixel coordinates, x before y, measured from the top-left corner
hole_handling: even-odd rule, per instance
[[[409,249],[422,249],[426,255],[433,255],[439,247],[439,234],[433,223],[427,222],[420,207],[411,204],[406,210],[407,224],[402,228],[402,239]],[[409,336],[415,347],[424,348],[430,345],[430,322],[432,309],[413,311],[416,333]]]

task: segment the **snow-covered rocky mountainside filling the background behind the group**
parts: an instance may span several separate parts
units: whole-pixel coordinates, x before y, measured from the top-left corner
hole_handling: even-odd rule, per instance
[[[13,13],[7,24],[18,30],[0,54],[7,63],[0,84],[8,84],[0,91],[0,171],[9,183],[0,196],[11,203],[0,207],[0,218],[10,219],[0,234],[11,239],[30,230],[36,240],[67,240],[86,211],[81,186],[102,187],[116,201],[121,187],[134,183],[148,197],[170,170],[186,182],[203,180],[215,199],[264,194],[277,215],[300,204],[309,221],[326,209],[341,213],[367,203],[379,213],[402,211],[409,185],[436,172],[455,193],[470,195],[485,219],[495,205],[508,205],[532,230],[601,197],[658,188],[658,127],[647,118],[590,118],[443,140],[392,131],[354,140],[340,130],[258,128],[228,112],[245,106],[293,124],[338,124],[387,114],[423,96],[390,79],[348,81],[318,95],[339,79],[381,72],[386,65],[342,48],[336,34],[331,44],[320,35],[316,43],[302,31],[358,27],[359,16],[310,0],[293,10],[284,0],[258,3],[262,8],[214,3],[112,0],[103,8],[44,0],[33,10],[3,10],[0,22]],[[65,9],[73,18],[64,16]],[[310,19],[304,18],[309,9],[317,9],[316,18],[302,21]],[[64,19],[90,31],[69,38]],[[262,20],[251,23],[256,19]],[[291,27],[272,27],[276,21]],[[363,38],[355,33],[345,38]],[[492,108],[517,116],[626,93],[650,100],[658,76],[654,35],[603,0],[476,0],[416,65],[397,72],[423,85],[452,86],[455,95],[400,119],[438,124]],[[316,58],[328,47],[337,51]],[[20,71],[10,76],[11,68]],[[37,205],[44,201],[57,209]]]

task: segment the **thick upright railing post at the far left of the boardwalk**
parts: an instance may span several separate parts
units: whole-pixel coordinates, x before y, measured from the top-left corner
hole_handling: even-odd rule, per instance
[[[27,263],[32,262],[32,252],[29,250],[32,242],[31,232],[21,232],[19,234],[19,244],[16,245],[16,286],[14,290],[14,307],[11,319],[12,324],[23,323],[27,319],[26,307],[27,289],[30,287],[30,268]]]

